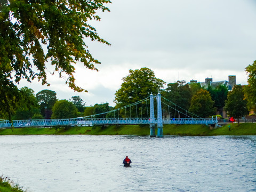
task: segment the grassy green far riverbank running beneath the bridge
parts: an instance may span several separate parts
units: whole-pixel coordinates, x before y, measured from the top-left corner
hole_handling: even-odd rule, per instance
[[[229,126],[230,125],[230,131]],[[210,130],[206,125],[164,125],[164,135],[213,136],[213,135],[256,135],[255,123],[224,124]],[[91,134],[91,135],[149,135],[148,125],[110,125],[87,127],[23,127],[18,129],[1,129],[0,135],[31,134]],[[157,128],[156,128],[157,134]]]

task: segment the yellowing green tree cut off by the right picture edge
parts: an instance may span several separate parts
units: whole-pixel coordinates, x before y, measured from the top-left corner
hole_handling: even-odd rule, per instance
[[[248,74],[248,85],[245,86],[245,98],[247,100],[247,107],[256,111],[256,60],[245,68]]]

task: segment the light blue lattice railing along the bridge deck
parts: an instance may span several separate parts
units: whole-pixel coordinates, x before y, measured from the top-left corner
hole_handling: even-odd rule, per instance
[[[92,125],[137,125],[157,124],[157,118],[71,118],[14,120],[13,127],[50,127],[50,126],[92,126]],[[217,124],[213,118],[163,118],[163,124]],[[7,120],[0,120],[0,128],[12,127]]]

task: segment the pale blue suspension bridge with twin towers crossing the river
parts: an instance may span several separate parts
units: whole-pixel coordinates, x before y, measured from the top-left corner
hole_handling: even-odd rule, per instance
[[[154,103],[155,99],[156,103]],[[156,125],[157,137],[163,137],[163,124],[205,124],[214,126],[217,123],[217,118],[201,118],[175,105],[175,103],[158,93],[157,95],[150,94],[148,98],[131,105],[101,114],[69,119],[26,119],[12,122],[0,120],[0,128],[148,124],[150,137],[156,137]]]

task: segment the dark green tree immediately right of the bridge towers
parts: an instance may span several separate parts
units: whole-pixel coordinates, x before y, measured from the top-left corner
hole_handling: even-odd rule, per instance
[[[192,92],[189,88],[188,84],[185,84],[185,81],[177,81],[177,83],[169,83],[167,84],[167,88],[165,89],[165,91],[162,93],[163,96],[170,100],[171,102],[175,103],[175,105],[188,110],[189,106],[190,106],[190,100],[192,97]],[[185,84],[185,85],[184,85]],[[170,106],[172,106],[174,108],[173,105],[171,105],[171,103],[169,104]],[[182,110],[181,108],[178,108],[178,110]],[[170,113],[174,116],[175,113],[175,108],[169,109]],[[185,111],[182,111],[185,112]],[[178,115],[178,113],[177,113]]]

